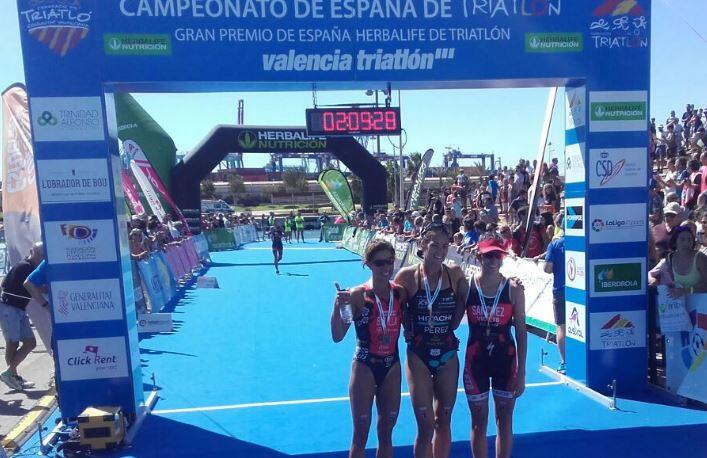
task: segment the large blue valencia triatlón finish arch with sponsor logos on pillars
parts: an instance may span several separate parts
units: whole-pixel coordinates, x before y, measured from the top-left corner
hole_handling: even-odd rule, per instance
[[[39,190],[52,307],[58,282],[96,279],[122,307],[120,319],[53,314],[63,417],[143,402],[113,101],[123,91],[565,86],[568,373],[598,391],[645,386],[650,0],[400,3],[17,1],[38,176],[92,164],[63,197]],[[632,166],[602,172],[620,160]]]

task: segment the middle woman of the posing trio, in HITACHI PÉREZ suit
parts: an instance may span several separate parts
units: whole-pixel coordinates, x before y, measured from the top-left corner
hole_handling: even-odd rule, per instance
[[[407,293],[405,372],[417,421],[415,457],[444,458],[451,447],[452,409],[459,380],[459,340],[454,330],[464,315],[464,273],[443,264],[449,234],[443,224],[422,231],[423,261],[401,269],[395,283]]]

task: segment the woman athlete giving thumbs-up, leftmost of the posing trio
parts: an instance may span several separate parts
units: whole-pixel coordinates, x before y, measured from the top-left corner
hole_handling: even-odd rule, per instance
[[[350,291],[342,291],[336,285],[339,292],[331,313],[331,337],[334,342],[341,342],[351,320],[356,329],[356,352],[349,381],[353,417],[351,458],[365,456],[374,398],[378,410],[376,456],[393,456],[393,427],[400,410],[398,338],[405,303],[405,290],[390,281],[394,260],[393,245],[374,240],[364,254],[371,279]]]

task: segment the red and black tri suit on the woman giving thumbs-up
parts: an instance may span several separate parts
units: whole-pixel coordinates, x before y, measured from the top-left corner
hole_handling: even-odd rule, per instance
[[[376,385],[380,387],[390,368],[400,361],[398,338],[403,321],[403,306],[395,283],[390,283],[389,297],[376,297],[370,282],[363,285],[363,288],[363,309],[354,319],[354,359],[371,369]]]

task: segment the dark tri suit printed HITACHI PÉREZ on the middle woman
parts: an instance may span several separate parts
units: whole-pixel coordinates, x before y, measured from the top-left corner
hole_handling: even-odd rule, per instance
[[[427,280],[422,276],[422,264],[417,270],[417,293],[408,301],[411,320],[411,337],[408,350],[417,355],[433,377],[459,350],[459,339],[454,335],[452,319],[456,310],[456,295],[452,288],[449,268],[442,265],[435,294],[431,294]],[[449,287],[441,290],[442,276],[446,275]],[[431,300],[430,300],[431,299]],[[431,302],[431,305],[429,304]]]

